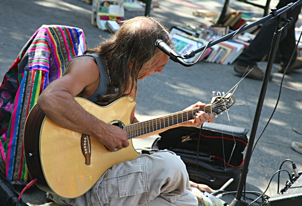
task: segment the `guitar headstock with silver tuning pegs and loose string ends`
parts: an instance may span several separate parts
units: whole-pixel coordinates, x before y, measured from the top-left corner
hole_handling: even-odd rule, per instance
[[[227,93],[225,95],[220,95],[220,92],[218,91],[218,96],[213,96],[212,100],[210,102],[211,108],[212,108],[212,114],[214,114],[216,117],[219,115],[219,113],[228,110],[232,105],[235,104],[236,100],[233,96],[233,93]],[[216,94],[216,92],[215,92]],[[214,91],[213,91],[214,95]]]

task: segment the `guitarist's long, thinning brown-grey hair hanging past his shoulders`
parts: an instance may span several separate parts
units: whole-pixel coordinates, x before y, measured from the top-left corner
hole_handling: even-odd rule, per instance
[[[120,29],[105,42],[85,53],[97,52],[108,56],[109,73],[112,83],[108,85],[107,94],[99,95],[102,102],[112,102],[122,96],[137,92],[138,74],[146,65],[156,61],[159,49],[155,46],[157,39],[173,47],[169,30],[151,17],[135,17],[123,22]],[[130,61],[132,66],[130,67]],[[117,92],[114,89],[118,88]]]

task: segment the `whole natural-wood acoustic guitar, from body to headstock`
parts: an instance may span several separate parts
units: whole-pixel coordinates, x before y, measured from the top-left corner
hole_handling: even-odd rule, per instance
[[[74,98],[88,113],[107,124],[127,131],[130,145],[109,152],[95,137],[63,128],[35,105],[30,111],[24,129],[24,152],[29,174],[37,179],[36,185],[47,192],[65,198],[75,198],[86,193],[113,165],[135,159],[139,153],[132,138],[156,132],[192,120],[198,111],[218,115],[235,103],[232,93],[213,97],[202,108],[173,113],[153,120],[130,124],[130,115],[136,105],[132,97],[125,96],[106,107]]]

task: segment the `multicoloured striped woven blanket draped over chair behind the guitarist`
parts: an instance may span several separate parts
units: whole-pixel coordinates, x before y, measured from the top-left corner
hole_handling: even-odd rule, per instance
[[[68,62],[86,50],[81,29],[43,25],[21,50],[0,86],[0,172],[13,184],[30,181],[23,129],[38,96],[62,76]]]

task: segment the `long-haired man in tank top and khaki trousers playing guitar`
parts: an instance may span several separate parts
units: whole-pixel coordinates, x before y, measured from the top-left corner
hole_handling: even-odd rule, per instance
[[[137,81],[161,73],[169,60],[155,46],[157,39],[173,46],[168,30],[155,19],[136,17],[125,21],[107,41],[72,59],[63,76],[50,83],[39,96],[38,107],[53,122],[97,138],[111,152],[127,147],[126,131],[89,114],[73,97],[83,97],[101,106],[123,96],[135,99]],[[186,110],[204,106],[197,102]],[[139,122],[134,111],[135,108],[131,124]],[[200,111],[194,114],[193,120],[173,127],[196,127],[205,121],[212,122],[213,116]],[[180,157],[163,151],[114,165],[80,197],[49,196],[60,205],[197,205],[196,197],[187,190],[189,186],[189,176]]]

